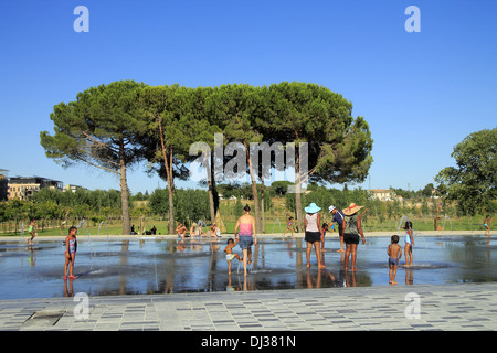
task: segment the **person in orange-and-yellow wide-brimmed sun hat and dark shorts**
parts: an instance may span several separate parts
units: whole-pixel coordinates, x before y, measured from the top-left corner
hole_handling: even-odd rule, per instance
[[[359,244],[359,235],[362,237],[362,244],[366,243],[364,234],[361,227],[361,216],[358,215],[359,210],[363,206],[358,206],[351,203],[348,208],[343,210],[346,215],[346,231],[343,232],[343,242],[346,243],[346,259],[345,269],[348,269],[349,257],[352,258],[351,270],[357,271],[356,268],[356,257],[357,257],[357,246]]]

